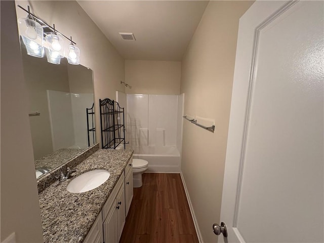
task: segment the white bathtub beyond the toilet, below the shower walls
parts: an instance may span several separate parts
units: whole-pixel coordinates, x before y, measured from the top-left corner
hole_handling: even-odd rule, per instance
[[[180,173],[180,153],[176,147],[133,147],[134,158],[148,161],[147,173]]]

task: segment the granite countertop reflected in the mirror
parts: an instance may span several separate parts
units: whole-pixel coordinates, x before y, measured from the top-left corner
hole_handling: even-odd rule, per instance
[[[35,168],[49,168],[54,169],[62,165],[65,161],[84,151],[80,148],[61,148],[44,157],[35,160]]]

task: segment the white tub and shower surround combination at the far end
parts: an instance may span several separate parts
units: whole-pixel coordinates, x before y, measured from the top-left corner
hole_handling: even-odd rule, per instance
[[[148,161],[147,172],[180,172],[184,95],[127,94],[126,98],[126,138],[134,158]]]

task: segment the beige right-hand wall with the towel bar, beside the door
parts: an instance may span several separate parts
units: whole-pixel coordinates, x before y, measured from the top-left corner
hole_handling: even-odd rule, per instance
[[[226,143],[238,19],[252,5],[211,1],[182,61],[185,114],[215,120],[215,133],[184,121],[181,170],[204,242],[216,242],[220,223]]]

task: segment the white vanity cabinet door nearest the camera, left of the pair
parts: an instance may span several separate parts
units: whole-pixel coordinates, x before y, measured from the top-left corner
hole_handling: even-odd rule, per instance
[[[103,223],[103,235],[105,243],[117,243],[117,214],[115,208],[116,200],[111,206],[107,218]]]

